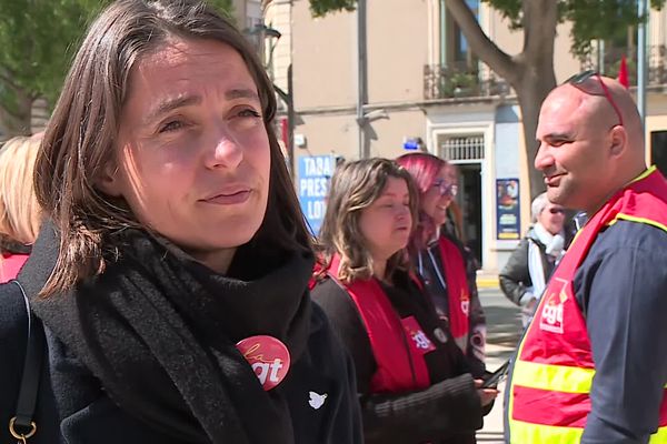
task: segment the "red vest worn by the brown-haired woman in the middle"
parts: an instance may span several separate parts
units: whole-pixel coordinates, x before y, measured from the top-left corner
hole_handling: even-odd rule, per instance
[[[340,258],[335,255],[329,276],[355,302],[366,326],[377,370],[370,381],[371,393],[395,393],[426,389],[430,376],[424,355],[435,345],[414,316],[400,319],[375,279],[349,284],[338,281]]]

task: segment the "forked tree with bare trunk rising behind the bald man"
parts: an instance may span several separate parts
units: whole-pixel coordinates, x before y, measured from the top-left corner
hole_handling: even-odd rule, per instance
[[[500,50],[480,28],[466,0],[445,0],[454,20],[468,40],[472,52],[492,71],[504,78],[516,91],[524,121],[527,159],[537,153],[535,132],[539,107],[548,92],[556,87],[554,73],[554,41],[556,27],[563,21],[573,23],[571,51],[584,56],[596,39],[616,38],[636,26],[643,18],[637,16],[634,0],[481,0],[500,11],[515,29],[524,30],[524,48],[510,56]],[[665,0],[651,0],[654,8],[661,8]],[[310,0],[313,16],[337,10],[354,10],[355,0]],[[544,191],[541,173],[529,168],[530,196]]]

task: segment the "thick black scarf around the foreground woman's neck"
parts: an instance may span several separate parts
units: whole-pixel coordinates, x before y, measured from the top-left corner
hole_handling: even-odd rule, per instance
[[[235,344],[267,334],[298,360],[310,326],[312,256],[243,246],[231,279],[145,232],[127,230],[120,241],[121,259],[102,275],[68,294],[32,297],[37,315],[109,397],[163,433],[193,443],[292,443],[280,385],[265,392]],[[46,281],[57,242],[52,228],[42,230],[21,279],[29,294]]]

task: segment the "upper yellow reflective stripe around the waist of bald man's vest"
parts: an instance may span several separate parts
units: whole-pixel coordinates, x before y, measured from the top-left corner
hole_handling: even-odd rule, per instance
[[[589,393],[595,375],[594,369],[580,369],[566,365],[538,364],[517,361],[512,382],[530,389],[549,392]]]

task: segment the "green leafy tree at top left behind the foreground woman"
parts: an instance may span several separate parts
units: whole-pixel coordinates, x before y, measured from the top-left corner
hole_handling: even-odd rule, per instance
[[[87,24],[110,0],[0,1],[0,133],[29,134],[32,104],[50,107]],[[229,13],[231,0],[211,2]]]

